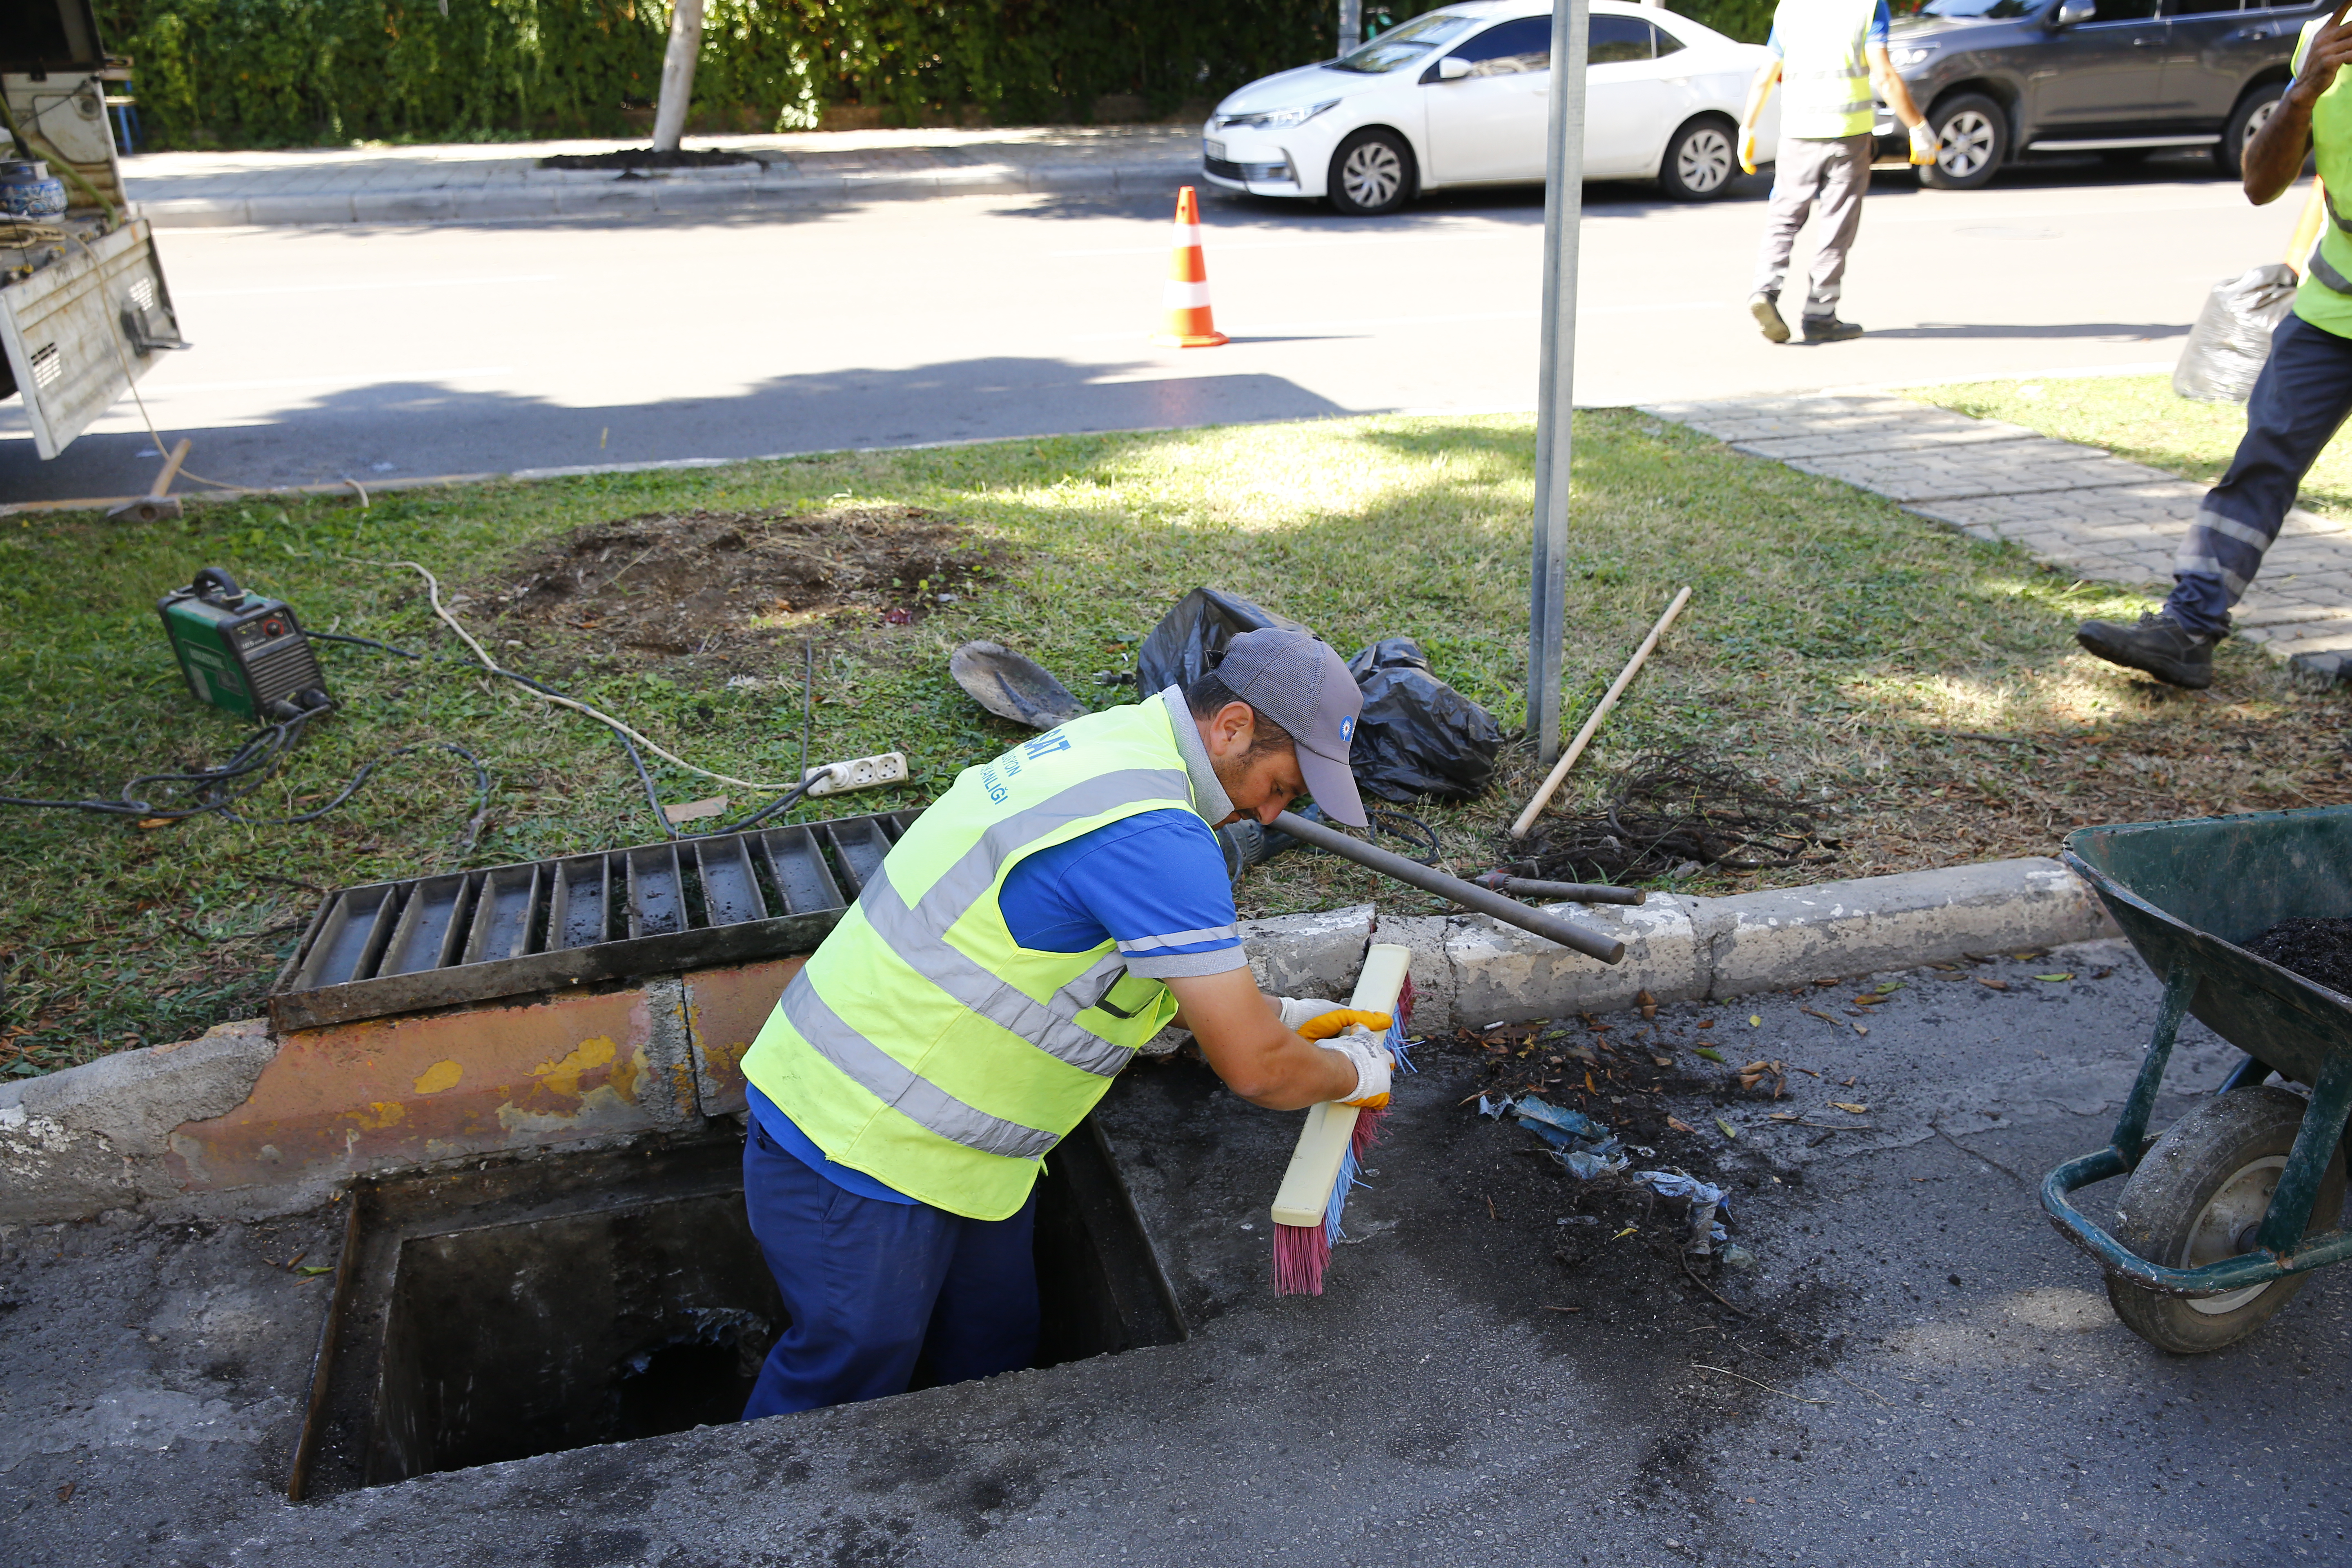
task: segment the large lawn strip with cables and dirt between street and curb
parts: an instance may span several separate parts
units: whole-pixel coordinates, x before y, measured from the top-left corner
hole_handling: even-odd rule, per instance
[[[195,503],[186,522],[94,515],[0,520],[0,792],[106,795],[158,766],[219,762],[240,731],[191,701],[155,597],[226,567],[289,599],[308,625],[461,658],[412,571],[468,599],[459,616],[499,656],[635,722],[680,755],[746,778],[790,778],[800,755],[800,649],[818,646],[811,759],[903,750],[913,788],[826,813],[929,799],[1021,731],[981,715],[946,675],[969,637],[1007,642],[1082,696],[1188,588],[1258,597],[1341,651],[1418,637],[1439,675],[1522,722],[1526,418],[1352,418],[1174,435],[851,454],[724,470],[287,503]],[[776,614],[724,658],[600,646],[492,618],[499,574],[586,524],[691,508],[807,515],[903,503],[962,522],[997,576],[903,628],[873,607]],[[1867,494],[1733,456],[1637,414],[1578,416],[1569,557],[1571,724],[1616,675],[1675,588],[1682,628],[1578,764],[1566,804],[1592,802],[1649,748],[1705,745],[1844,823],[1839,877],[2046,851],[2074,820],[2129,811],[2303,802],[2336,788],[2343,705],[2286,689],[2225,649],[2220,701],[2187,701],[2072,649],[2074,618],[2129,595],[2067,588],[2016,550],[1907,517]],[[468,771],[442,752],[386,764],[346,809],[306,825],[219,818],[141,830],[68,811],[12,811],[0,846],[0,1072],[42,1072],[160,1044],[256,1011],[318,889],[452,865],[496,865],[659,837],[609,736],[517,689],[447,665],[353,649],[320,658],[341,708],[320,722],[256,811],[315,804],[365,759],[421,741],[480,752],[496,780],[480,842]],[[746,672],[771,679],[729,686]],[[1978,743],[1971,733],[2037,738]],[[2074,748],[2074,738],[2093,745]],[[2065,750],[2053,762],[2051,748]],[[2185,748],[2185,750],[2183,750]],[[2199,762],[2201,757],[2201,762]],[[666,799],[713,792],[656,769]],[[2098,778],[2114,780],[2114,788]],[[1536,780],[1517,745],[1486,799],[1423,809],[1461,870],[1503,853],[1503,823]],[[2077,780],[2089,785],[2077,788]],[[2124,788],[2129,785],[2129,788]],[[727,790],[743,804],[741,790]],[[1722,882],[1693,882],[1719,891]],[[1378,896],[1324,856],[1249,875],[1244,914]]]

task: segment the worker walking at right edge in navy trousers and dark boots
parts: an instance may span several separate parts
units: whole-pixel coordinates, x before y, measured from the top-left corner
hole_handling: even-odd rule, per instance
[[[2213,649],[2230,635],[2230,607],[2263,569],[2303,475],[2352,414],[2352,216],[2336,195],[2352,190],[2352,85],[2338,75],[2352,61],[2345,9],[2303,24],[2296,80],[2241,160],[2246,200],[2263,207],[2317,153],[2333,219],[2303,268],[2293,313],[2270,334],[2270,360],[2246,397],[2246,435],[2180,541],[2164,609],[2136,625],[2084,621],[2074,632],[2074,642],[2107,663],[2192,691],[2213,684]]]

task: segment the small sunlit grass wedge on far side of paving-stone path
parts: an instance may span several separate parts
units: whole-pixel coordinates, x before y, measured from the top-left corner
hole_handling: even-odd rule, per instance
[[[2230,468],[2246,435],[2246,409],[2234,402],[2190,402],[2171,376],[2077,376],[2065,381],[1976,381],[1905,393],[1919,402],[2006,418],[2063,442],[2105,447],[2119,458],[2164,468],[2211,484]],[[2333,442],[2303,480],[2303,505],[2321,517],[2352,520],[2352,444]]]

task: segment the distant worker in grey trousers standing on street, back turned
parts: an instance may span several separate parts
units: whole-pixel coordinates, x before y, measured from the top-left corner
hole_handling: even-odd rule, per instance
[[[1837,320],[1837,299],[1846,287],[1846,254],[1863,226],[1863,193],[1870,190],[1870,160],[1877,153],[1872,85],[1910,127],[1912,162],[1936,160],[1936,136],[1886,59],[1886,0],[1780,0],[1773,9],[1766,40],[1773,56],[1757,66],[1755,82],[1748,85],[1748,113],[1740,115],[1740,167],[1755,174],[1757,120],[1773,82],[1785,82],[1764,254],[1748,296],[1748,313],[1773,343],[1788,343],[1780,282],[1788,277],[1797,230],[1816,202],[1825,233],[1813,252],[1804,341],[1842,343],[1863,336],[1853,322]]]

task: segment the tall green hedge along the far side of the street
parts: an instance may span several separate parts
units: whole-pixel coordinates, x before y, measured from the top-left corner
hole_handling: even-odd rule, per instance
[[[1425,0],[1367,5],[1395,26]],[[1684,0],[1762,38],[1771,0]],[[807,129],[828,106],[898,125],[1145,115],[1331,54],[1336,0],[708,0],[699,122]],[[143,146],[623,136],[654,101],[661,0],[99,0],[134,61]],[[1127,106],[1134,108],[1131,103]]]

